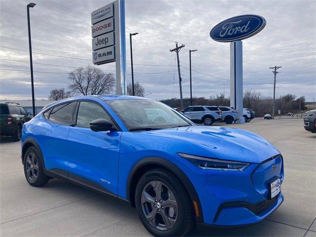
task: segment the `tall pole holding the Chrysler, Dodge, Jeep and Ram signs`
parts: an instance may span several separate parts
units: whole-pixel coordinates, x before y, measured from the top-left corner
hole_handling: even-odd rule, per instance
[[[120,60],[120,30],[119,30],[119,25],[120,25],[120,17],[119,17],[119,0],[114,1],[114,15],[115,15],[115,67],[116,67],[116,94],[121,95],[122,94],[122,87],[121,87],[121,60]],[[124,36],[125,38],[125,36]]]

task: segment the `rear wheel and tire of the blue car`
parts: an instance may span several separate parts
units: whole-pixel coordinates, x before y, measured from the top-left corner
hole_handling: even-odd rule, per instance
[[[44,174],[39,152],[34,146],[26,150],[23,166],[25,178],[30,185],[38,187],[48,182],[49,177]]]

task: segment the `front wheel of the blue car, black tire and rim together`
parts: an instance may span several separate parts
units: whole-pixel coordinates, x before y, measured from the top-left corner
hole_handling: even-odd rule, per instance
[[[184,236],[193,227],[191,199],[181,181],[164,169],[152,169],[138,181],[136,209],[154,236]]]

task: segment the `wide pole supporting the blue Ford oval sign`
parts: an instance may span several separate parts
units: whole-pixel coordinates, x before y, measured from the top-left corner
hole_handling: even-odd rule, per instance
[[[231,107],[238,111],[237,123],[244,123],[242,106],[242,41],[230,43],[231,53]]]

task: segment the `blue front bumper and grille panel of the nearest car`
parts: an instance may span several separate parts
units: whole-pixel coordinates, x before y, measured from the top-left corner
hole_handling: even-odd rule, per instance
[[[196,188],[203,213],[201,225],[214,227],[251,225],[264,220],[282,203],[279,193],[269,200],[270,182],[283,181],[283,158],[253,163],[244,171],[204,170],[193,164],[181,167]]]

